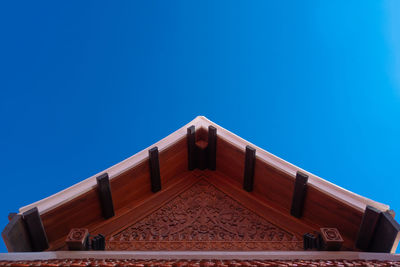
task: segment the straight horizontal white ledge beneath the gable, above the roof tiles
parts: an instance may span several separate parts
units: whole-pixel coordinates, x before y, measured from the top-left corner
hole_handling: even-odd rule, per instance
[[[349,251],[54,251],[0,253],[0,260],[52,259],[137,260],[387,260],[400,261],[399,254]]]

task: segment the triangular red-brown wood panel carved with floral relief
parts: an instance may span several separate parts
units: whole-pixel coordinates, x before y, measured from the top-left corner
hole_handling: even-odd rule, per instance
[[[201,180],[113,235],[107,250],[302,250],[296,236]]]

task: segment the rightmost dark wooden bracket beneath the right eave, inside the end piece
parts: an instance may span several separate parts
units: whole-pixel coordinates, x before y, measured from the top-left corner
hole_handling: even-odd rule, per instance
[[[358,230],[356,240],[357,248],[363,251],[368,250],[376,225],[378,224],[380,213],[380,210],[372,206],[367,206],[365,208],[364,215],[360,224],[360,229]]]

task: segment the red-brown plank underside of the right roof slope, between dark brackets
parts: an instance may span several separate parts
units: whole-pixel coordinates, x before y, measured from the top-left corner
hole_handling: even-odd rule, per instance
[[[217,170],[234,181],[243,183],[244,149],[239,149],[219,138],[217,146]],[[254,170],[254,189],[251,194],[275,209],[290,212],[294,177],[278,170],[257,158]],[[312,185],[304,203],[303,217],[299,219],[309,225],[335,227],[352,247],[361,223],[362,212],[321,192]]]

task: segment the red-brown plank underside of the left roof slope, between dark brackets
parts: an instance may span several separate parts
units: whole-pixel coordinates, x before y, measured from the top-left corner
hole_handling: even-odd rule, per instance
[[[160,172],[162,186],[170,183],[175,176],[187,169],[186,138],[160,152]],[[150,191],[150,174],[148,161],[138,164],[110,181],[111,193],[116,214],[129,210],[153,193]],[[101,215],[97,189],[62,204],[41,215],[49,239],[50,249],[56,242],[64,239],[72,228],[95,229],[105,220]],[[88,226],[91,227],[88,227]]]

